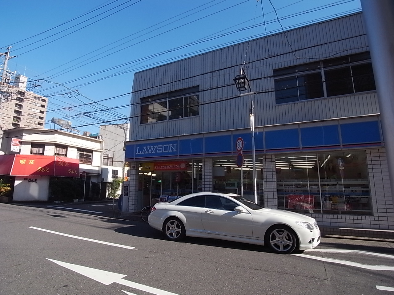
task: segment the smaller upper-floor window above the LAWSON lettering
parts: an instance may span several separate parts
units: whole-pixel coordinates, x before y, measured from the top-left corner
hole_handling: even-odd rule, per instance
[[[141,124],[199,115],[199,87],[141,98]]]

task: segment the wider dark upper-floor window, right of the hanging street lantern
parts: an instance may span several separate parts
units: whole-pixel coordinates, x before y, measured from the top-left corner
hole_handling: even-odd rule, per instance
[[[376,90],[369,52],[273,70],[276,103]]]

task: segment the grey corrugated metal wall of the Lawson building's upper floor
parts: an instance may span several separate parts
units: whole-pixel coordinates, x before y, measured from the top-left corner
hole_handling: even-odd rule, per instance
[[[256,126],[379,113],[375,92],[275,104],[273,69],[368,50],[362,16],[357,13],[136,73],[130,140],[249,127],[250,97],[226,100],[239,94],[233,78],[246,50],[251,89],[266,92],[254,96]],[[140,125],[140,98],[195,85],[201,91],[199,116]]]

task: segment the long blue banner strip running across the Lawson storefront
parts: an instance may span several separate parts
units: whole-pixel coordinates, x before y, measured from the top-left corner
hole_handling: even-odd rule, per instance
[[[212,157],[236,155],[236,140],[243,138],[243,151],[252,149],[250,131],[240,130],[225,134],[207,133],[188,138],[178,136],[172,140],[126,143],[125,159],[177,159],[188,157]],[[263,141],[265,140],[265,142]],[[142,141],[139,141],[142,142]],[[265,144],[265,146],[264,146]],[[300,124],[298,128],[255,132],[255,149],[260,153],[346,149],[350,147],[383,146],[378,120],[364,122],[340,122],[340,124],[311,126]]]

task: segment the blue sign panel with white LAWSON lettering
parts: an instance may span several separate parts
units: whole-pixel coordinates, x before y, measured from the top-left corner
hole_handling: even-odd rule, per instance
[[[134,150],[130,151],[126,146],[126,158],[128,156],[132,157],[133,155],[135,155],[136,158],[178,155],[178,140],[155,142],[150,144],[136,144],[135,146],[130,147],[134,148]]]

